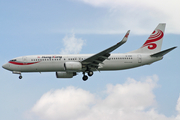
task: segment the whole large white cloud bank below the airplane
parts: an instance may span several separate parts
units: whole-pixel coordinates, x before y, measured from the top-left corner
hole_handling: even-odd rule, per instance
[[[31,116],[43,120],[175,120],[156,110],[153,90],[156,75],[124,84],[107,85],[106,97],[97,98],[86,90],[67,87],[45,93],[31,109]],[[180,98],[177,111],[180,112]],[[179,113],[180,114],[180,113]]]

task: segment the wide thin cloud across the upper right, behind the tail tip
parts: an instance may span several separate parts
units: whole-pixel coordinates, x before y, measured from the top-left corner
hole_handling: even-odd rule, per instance
[[[107,16],[99,23],[102,33],[122,33],[124,29],[131,29],[134,34],[148,34],[152,32],[151,26],[155,27],[158,23],[165,22],[168,25],[167,33],[180,34],[180,1],[178,0],[77,1],[109,9]]]

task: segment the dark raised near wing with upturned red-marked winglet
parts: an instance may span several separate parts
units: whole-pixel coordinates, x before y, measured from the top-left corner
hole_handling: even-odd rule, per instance
[[[119,46],[121,46],[122,44],[124,44],[127,41],[127,38],[129,36],[130,30],[127,31],[126,35],[124,36],[124,38],[118,42],[116,45],[113,45],[112,47],[103,50],[83,61],[81,61],[82,65],[88,68],[98,68],[99,63],[102,63],[104,60],[106,60],[109,56],[110,53],[115,50],[116,48],[118,48]]]

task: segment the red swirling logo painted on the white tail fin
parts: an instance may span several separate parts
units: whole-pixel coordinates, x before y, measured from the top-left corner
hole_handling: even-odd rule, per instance
[[[159,30],[159,29],[155,30],[151,34],[151,36],[148,38],[148,40],[144,43],[142,48],[145,46],[148,46],[148,49],[150,49],[150,50],[155,49],[157,47],[157,44],[152,43],[152,42],[156,42],[156,41],[160,40],[163,36],[164,36],[164,33],[161,30]]]

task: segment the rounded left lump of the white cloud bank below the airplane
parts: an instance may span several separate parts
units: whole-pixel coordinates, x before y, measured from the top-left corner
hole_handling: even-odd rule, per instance
[[[41,119],[73,120],[86,115],[93,101],[94,96],[88,91],[67,87],[45,93],[32,112]]]

